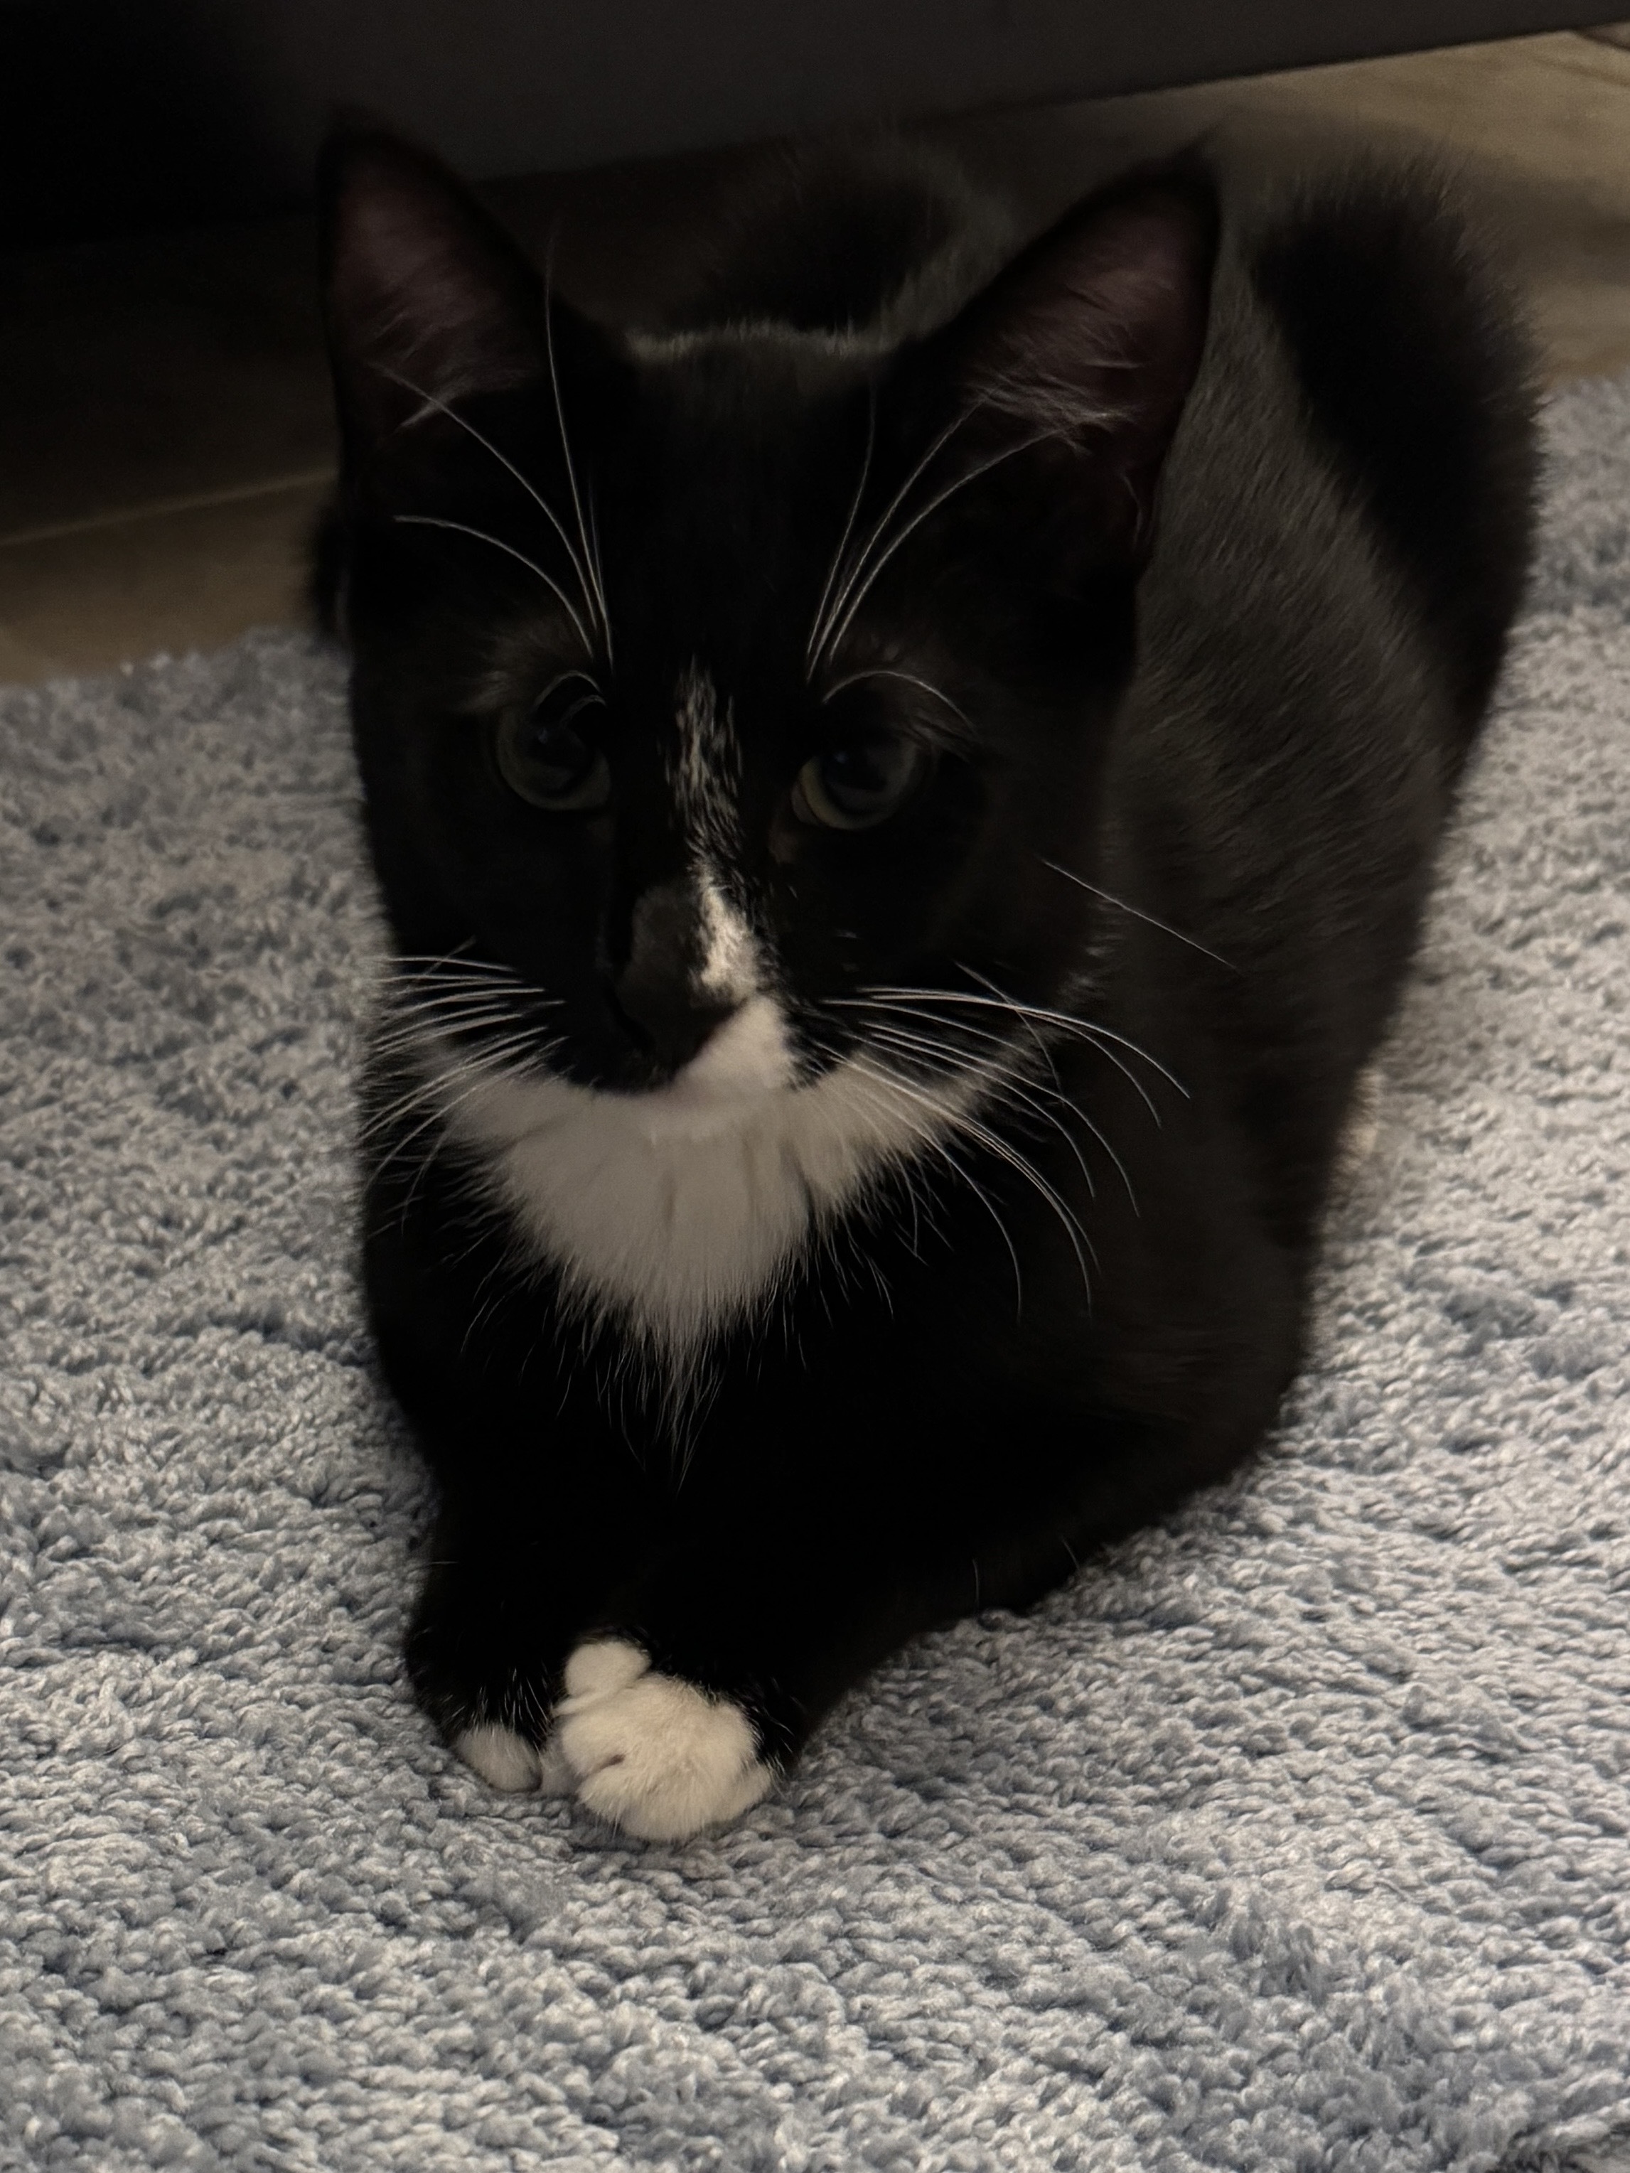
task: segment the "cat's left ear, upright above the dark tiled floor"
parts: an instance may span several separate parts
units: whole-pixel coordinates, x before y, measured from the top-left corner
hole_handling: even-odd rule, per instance
[[[328,352],[348,450],[548,372],[532,263],[437,159],[380,128],[319,165]]]

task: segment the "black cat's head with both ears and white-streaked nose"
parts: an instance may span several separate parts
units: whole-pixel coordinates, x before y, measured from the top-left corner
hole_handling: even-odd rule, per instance
[[[424,1017],[756,1093],[911,1067],[889,991],[1056,1002],[1215,235],[1152,172],[904,346],[639,337],[428,156],[335,143],[356,734]]]

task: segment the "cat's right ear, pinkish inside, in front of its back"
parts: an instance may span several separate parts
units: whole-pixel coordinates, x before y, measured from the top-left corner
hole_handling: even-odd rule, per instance
[[[1198,161],[1078,204],[917,352],[917,395],[963,463],[1041,474],[1098,526],[1098,552],[1150,545],[1161,463],[1200,367],[1217,191]],[[950,450],[950,448],[948,448]]]

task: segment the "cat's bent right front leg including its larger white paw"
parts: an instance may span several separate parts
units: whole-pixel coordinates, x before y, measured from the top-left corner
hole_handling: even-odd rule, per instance
[[[552,1784],[650,1841],[728,1823],[867,1669],[958,1615],[1030,1606],[1250,1430],[1002,1393],[876,1410],[769,1467],[726,1456],[567,1656]]]

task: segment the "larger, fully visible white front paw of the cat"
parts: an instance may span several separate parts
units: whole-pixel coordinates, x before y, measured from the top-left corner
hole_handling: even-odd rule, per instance
[[[637,1645],[600,1638],[565,1662],[548,1760],[578,1801],[641,1841],[689,1841],[756,1804],[774,1782],[748,1714],[659,1675]]]

